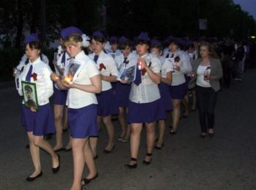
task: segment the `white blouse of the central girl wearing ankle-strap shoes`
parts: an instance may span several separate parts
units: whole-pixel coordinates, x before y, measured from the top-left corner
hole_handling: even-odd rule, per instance
[[[141,58],[146,60],[147,66],[149,67],[155,74],[160,74],[161,70],[161,62],[159,58],[153,57],[150,54],[143,55]],[[138,59],[135,58],[135,59]],[[137,86],[134,82],[132,82],[132,88],[129,93],[129,100],[134,103],[151,103],[154,100],[158,100],[160,98],[158,85],[152,82],[151,78],[148,76],[146,72],[145,75],[141,75],[141,83]]]

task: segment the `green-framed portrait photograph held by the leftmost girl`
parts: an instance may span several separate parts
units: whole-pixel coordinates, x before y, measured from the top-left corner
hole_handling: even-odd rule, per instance
[[[36,111],[39,109],[38,100],[37,100],[37,86],[32,82],[21,82],[23,100],[26,108],[34,107]]]

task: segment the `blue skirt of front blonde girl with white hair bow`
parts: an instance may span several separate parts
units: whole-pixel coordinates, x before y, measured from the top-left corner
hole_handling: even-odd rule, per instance
[[[98,136],[96,104],[78,109],[68,108],[67,116],[72,138]]]

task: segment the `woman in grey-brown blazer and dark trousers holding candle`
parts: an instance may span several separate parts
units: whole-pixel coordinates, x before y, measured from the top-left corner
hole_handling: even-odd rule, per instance
[[[199,50],[200,58],[195,60],[192,74],[195,75],[200,137],[205,138],[207,132],[210,137],[214,136],[214,108],[217,103],[217,92],[220,90],[219,79],[222,78],[222,65],[210,43],[200,42]]]

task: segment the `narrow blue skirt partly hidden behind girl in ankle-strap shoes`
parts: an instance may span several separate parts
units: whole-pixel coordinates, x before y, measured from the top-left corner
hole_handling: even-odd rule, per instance
[[[169,85],[161,82],[161,84],[158,85],[160,95],[161,95],[161,103],[165,107],[165,111],[172,111],[173,110],[173,103],[172,98],[170,96],[170,90]]]

